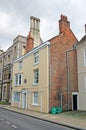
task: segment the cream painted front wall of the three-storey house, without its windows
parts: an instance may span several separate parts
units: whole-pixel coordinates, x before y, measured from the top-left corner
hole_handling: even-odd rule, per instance
[[[27,108],[34,111],[40,112],[49,112],[49,53],[48,46],[41,48],[39,50],[39,63],[34,64],[34,53],[28,55],[21,59],[23,61],[23,67],[21,70],[18,69],[18,63],[14,63],[13,65],[13,90],[21,91],[20,96],[22,95],[22,90],[27,90]],[[21,61],[20,60],[20,61]],[[33,84],[34,79],[34,70],[39,69],[39,83],[38,85]],[[23,75],[22,78],[22,86],[14,86],[15,74],[21,73]],[[24,79],[27,79],[27,83],[24,83]],[[33,105],[33,94],[34,92],[38,92],[39,94],[39,103],[38,106]],[[12,102],[13,106],[19,106]],[[22,107],[22,96],[20,107]]]

